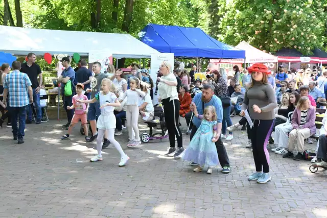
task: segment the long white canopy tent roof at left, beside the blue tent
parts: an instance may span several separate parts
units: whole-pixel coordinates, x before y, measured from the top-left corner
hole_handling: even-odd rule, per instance
[[[44,53],[88,56],[90,51],[106,51],[114,58],[150,58],[159,53],[129,34],[28,29],[0,26],[0,51],[26,56]]]

